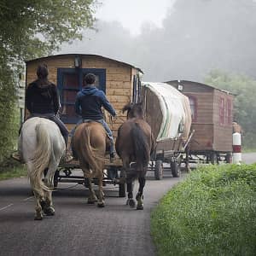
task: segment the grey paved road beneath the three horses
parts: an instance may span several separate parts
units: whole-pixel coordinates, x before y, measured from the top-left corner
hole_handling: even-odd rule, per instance
[[[125,206],[113,186],[105,189],[105,208],[87,205],[82,185],[59,190],[54,194],[55,216],[43,221],[33,220],[26,178],[0,182],[0,255],[155,255],[150,211],[181,179],[148,177],[143,211]]]

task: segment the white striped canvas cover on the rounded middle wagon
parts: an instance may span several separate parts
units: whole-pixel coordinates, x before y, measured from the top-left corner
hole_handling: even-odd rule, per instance
[[[186,140],[191,126],[189,98],[170,84],[143,82],[142,85],[147,121],[154,127],[157,140],[177,137]]]

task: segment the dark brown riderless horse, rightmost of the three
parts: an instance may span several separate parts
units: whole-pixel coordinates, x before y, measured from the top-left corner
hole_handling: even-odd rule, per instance
[[[155,140],[151,127],[143,119],[143,103],[130,103],[123,108],[123,113],[125,111],[127,111],[127,120],[119,127],[115,148],[123,161],[128,193],[127,205],[135,207],[132,191],[134,180],[138,177],[137,209],[143,210],[145,176]]]

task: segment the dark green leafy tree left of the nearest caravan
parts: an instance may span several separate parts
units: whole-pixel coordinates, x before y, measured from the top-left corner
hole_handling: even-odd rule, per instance
[[[13,147],[15,81],[23,61],[49,55],[61,43],[81,39],[92,27],[97,0],[2,0],[0,2],[0,162]],[[3,145],[4,143],[4,145]]]

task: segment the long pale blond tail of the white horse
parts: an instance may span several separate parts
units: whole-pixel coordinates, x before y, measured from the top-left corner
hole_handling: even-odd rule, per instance
[[[46,125],[38,124],[35,127],[37,135],[37,149],[36,152],[28,165],[31,165],[29,179],[32,187],[38,191],[40,190],[50,190],[42,181],[44,170],[49,166],[49,160],[52,152],[51,140],[49,137],[49,132],[46,129]]]

